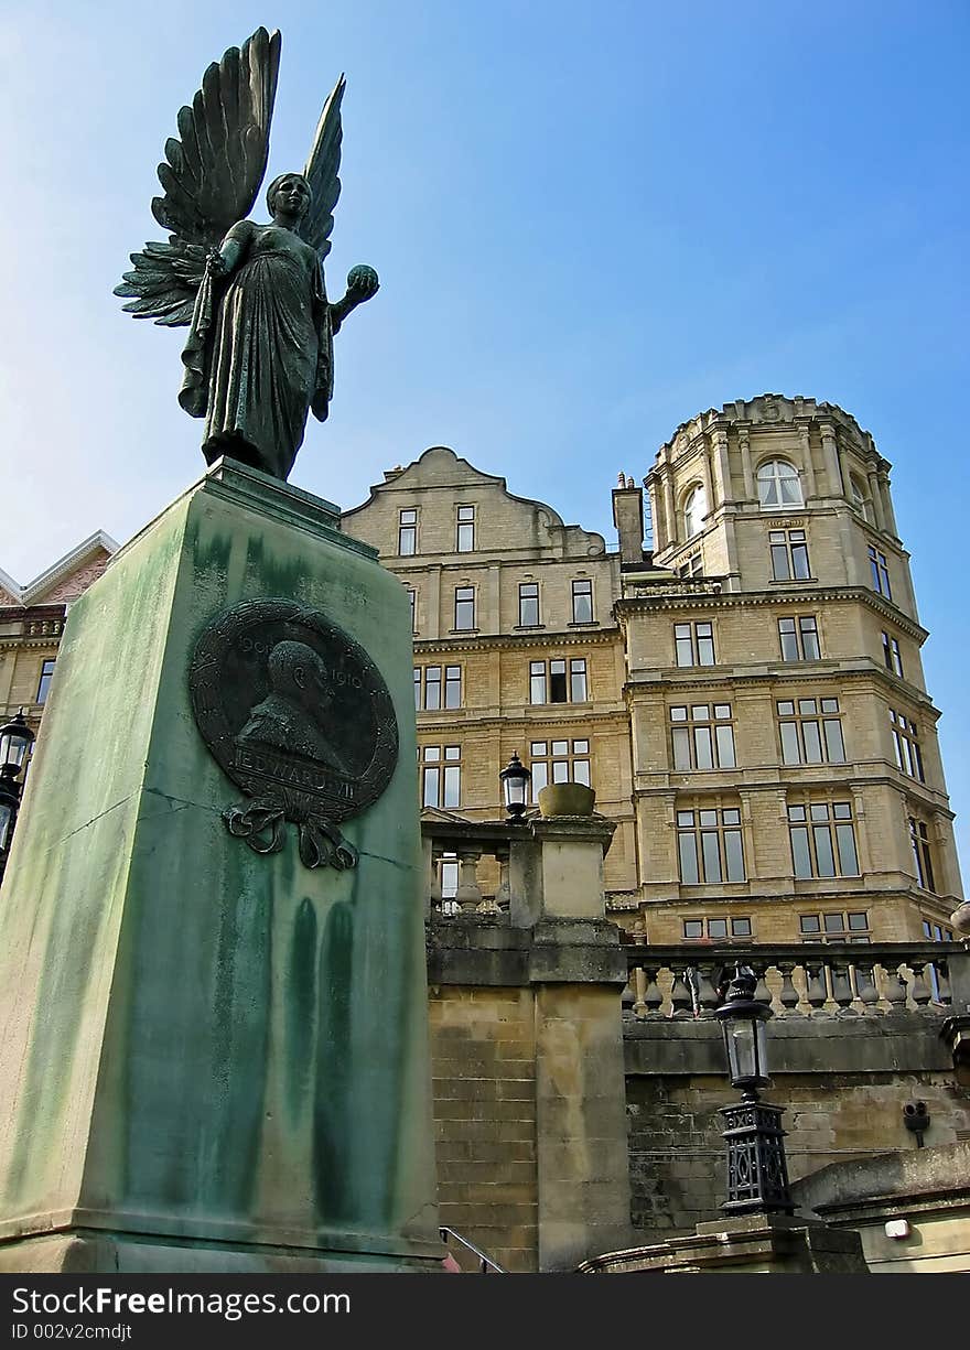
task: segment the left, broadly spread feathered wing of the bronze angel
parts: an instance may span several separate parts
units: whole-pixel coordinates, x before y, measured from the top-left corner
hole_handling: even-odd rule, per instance
[[[123,308],[136,319],[189,324],[208,250],[253,209],[266,173],[280,42],[278,32],[257,28],[242,49],[212,62],[192,107],[180,111],[181,139],[165,142],[166,162],[158,166],[165,196],[151,201],[151,215],[172,231],[169,242],[131,254],[134,270],[115,288],[132,297]]]

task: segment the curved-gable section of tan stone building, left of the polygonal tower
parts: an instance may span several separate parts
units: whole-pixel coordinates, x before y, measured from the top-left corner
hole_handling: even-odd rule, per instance
[[[443,447],[386,473],[342,526],[411,594],[422,805],[503,815],[499,774],[515,752],[534,798],[546,782],[589,783],[617,825],[607,887],[635,903],[616,552]],[[446,896],[458,868],[442,865]]]

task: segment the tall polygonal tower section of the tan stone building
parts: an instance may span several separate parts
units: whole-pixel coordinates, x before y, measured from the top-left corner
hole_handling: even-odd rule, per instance
[[[808,398],[661,447],[654,552],[616,605],[650,941],[947,936],[952,817],[888,474]]]

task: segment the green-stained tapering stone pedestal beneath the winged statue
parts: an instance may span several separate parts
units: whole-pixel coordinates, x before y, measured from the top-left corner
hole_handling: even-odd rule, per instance
[[[434,1268],[408,603],[336,508],[223,460],[72,606],[0,892],[0,1270]],[[200,634],[297,601],[400,748],[357,867],[234,838]]]

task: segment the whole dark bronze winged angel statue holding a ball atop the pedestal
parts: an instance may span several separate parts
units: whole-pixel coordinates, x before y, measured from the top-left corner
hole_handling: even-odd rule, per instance
[[[340,194],[343,76],[324,104],[301,174],[274,178],[267,225],[247,220],[266,171],[280,34],[258,28],[203,77],[178,138],[158,166],[163,197],[151,213],[168,243],[132,254],[115,289],[124,309],[168,328],[189,325],[178,402],[205,418],[203,454],[242,460],[286,479],[307,425],[323,421],[334,390],[334,333],[377,292],[373,267],[353,267],[347,293],[327,301]]]

